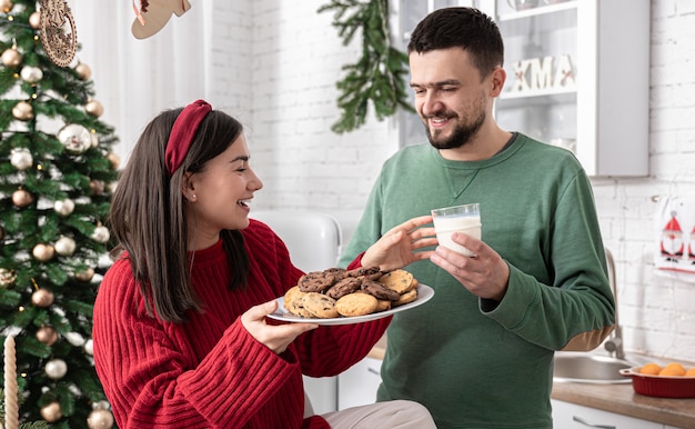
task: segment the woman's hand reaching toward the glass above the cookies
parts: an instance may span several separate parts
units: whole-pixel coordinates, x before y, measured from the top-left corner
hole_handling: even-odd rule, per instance
[[[390,271],[429,259],[433,250],[421,249],[436,246],[437,241],[434,227],[420,228],[427,223],[432,223],[431,216],[413,218],[394,227],[364,252],[362,267],[379,266],[382,271]]]

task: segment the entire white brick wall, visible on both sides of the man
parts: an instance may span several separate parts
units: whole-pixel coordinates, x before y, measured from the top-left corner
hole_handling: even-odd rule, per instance
[[[262,208],[359,212],[381,163],[397,149],[393,120],[345,136],[330,131],[345,48],[316,13],[323,0],[254,2],[253,164]],[[695,360],[695,285],[654,275],[654,196],[695,193],[695,6],[652,1],[651,176],[594,180],[606,246],[617,263],[625,347]],[[628,73],[629,70],[615,70]],[[610,118],[606,118],[610,120]],[[504,124],[502,124],[504,126]]]

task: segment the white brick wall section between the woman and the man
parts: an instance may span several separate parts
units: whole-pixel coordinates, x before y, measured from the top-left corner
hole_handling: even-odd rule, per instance
[[[254,2],[253,124],[248,130],[252,164],[265,188],[263,208],[360,209],[381,163],[397,149],[392,120],[370,121],[335,134],[335,82],[360,44],[344,47],[318,13],[328,1]]]

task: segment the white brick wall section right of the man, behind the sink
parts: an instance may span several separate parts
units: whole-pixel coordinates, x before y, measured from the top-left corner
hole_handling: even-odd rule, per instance
[[[652,1],[649,177],[594,181],[605,242],[617,262],[626,347],[691,361],[695,285],[655,276],[654,200],[695,194],[694,12],[688,0]]]

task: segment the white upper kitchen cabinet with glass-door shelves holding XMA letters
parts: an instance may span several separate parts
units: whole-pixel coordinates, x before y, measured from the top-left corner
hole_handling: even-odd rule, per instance
[[[497,122],[574,146],[590,176],[647,176],[649,1],[518,2],[526,8],[496,0],[484,9],[505,42]]]

